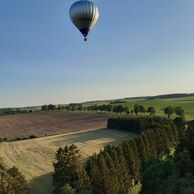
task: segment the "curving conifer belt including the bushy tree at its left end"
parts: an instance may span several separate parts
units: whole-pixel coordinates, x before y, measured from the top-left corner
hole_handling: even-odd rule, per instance
[[[169,154],[179,137],[178,128],[167,118],[110,119],[108,128],[114,126],[140,135],[117,146],[108,145],[86,161],[75,145],[59,148],[54,163],[54,194],[127,194],[140,180],[144,162]]]

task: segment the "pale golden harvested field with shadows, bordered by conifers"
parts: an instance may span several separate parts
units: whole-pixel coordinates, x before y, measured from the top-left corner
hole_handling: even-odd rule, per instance
[[[101,124],[103,124],[102,121]],[[134,136],[134,134],[118,130],[98,129],[23,141],[2,142],[0,143],[0,156],[8,167],[15,165],[24,173],[34,194],[51,194],[53,189],[52,163],[54,154],[60,146],[76,144],[86,158],[99,152],[107,144],[118,144]]]

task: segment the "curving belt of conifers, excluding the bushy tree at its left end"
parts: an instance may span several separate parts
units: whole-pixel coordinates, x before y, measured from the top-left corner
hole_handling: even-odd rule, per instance
[[[173,121],[160,117],[113,118],[108,127],[141,135],[117,146],[108,145],[87,160],[93,194],[127,193],[133,183],[138,183],[142,164],[151,157],[168,155],[178,138]]]

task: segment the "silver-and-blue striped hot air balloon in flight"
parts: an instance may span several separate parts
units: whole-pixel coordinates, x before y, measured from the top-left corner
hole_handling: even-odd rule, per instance
[[[69,15],[73,24],[84,36],[84,40],[87,41],[87,35],[99,17],[98,7],[91,1],[77,1],[71,6]]]

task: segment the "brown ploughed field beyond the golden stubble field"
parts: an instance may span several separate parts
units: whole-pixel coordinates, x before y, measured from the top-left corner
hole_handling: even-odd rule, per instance
[[[79,112],[35,112],[0,116],[0,138],[13,140],[106,128],[107,115]]]

